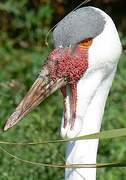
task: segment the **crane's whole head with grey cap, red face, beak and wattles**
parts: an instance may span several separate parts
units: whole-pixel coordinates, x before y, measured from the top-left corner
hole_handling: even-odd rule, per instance
[[[68,14],[54,29],[53,39],[54,50],[27,95],[7,120],[4,130],[14,126],[57,89],[61,89],[64,97],[61,126],[74,130],[78,82],[86,78],[88,72],[106,63],[115,66],[121,53],[113,21],[106,13],[94,7],[80,8]]]

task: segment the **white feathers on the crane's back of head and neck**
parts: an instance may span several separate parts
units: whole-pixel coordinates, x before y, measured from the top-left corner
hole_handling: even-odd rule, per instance
[[[77,137],[100,131],[106,99],[115,75],[121,54],[121,44],[111,18],[98,10],[106,20],[104,31],[93,39],[89,49],[89,67],[77,85],[77,111],[74,128],[70,129],[70,96],[66,99],[68,122],[64,128],[62,119],[62,137]],[[98,140],[81,140],[67,145],[67,164],[96,163]],[[96,169],[66,169],[65,180],[96,180]]]

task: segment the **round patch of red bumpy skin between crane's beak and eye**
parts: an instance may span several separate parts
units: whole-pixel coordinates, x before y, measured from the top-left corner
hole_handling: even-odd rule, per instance
[[[49,57],[49,65],[53,80],[63,77],[69,84],[74,84],[80,80],[88,67],[87,52],[79,47],[75,52],[72,52],[71,48],[55,49]]]

